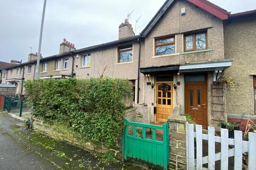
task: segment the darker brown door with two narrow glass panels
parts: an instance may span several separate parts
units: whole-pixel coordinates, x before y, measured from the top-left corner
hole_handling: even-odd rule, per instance
[[[196,124],[207,128],[207,95],[205,82],[186,83],[185,113],[191,115]]]

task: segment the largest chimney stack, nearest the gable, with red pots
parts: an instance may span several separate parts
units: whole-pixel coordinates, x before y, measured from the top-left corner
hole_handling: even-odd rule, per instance
[[[121,25],[119,25],[119,35],[118,39],[128,38],[135,36],[135,33],[133,32],[132,24],[129,23],[127,19],[124,20],[124,23],[122,22]]]

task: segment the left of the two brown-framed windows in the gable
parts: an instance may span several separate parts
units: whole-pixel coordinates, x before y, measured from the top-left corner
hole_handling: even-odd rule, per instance
[[[175,37],[166,37],[155,40],[155,55],[175,53]]]

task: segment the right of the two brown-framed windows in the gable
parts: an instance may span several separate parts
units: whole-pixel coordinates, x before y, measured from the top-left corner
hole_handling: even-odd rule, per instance
[[[206,33],[193,33],[184,36],[184,51],[206,49]]]

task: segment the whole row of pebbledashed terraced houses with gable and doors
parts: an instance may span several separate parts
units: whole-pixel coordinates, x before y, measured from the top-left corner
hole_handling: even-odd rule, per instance
[[[190,114],[204,128],[219,121],[255,118],[256,11],[231,14],[205,0],[167,0],[135,36],[128,20],[119,39],[76,49],[66,39],[60,53],[42,57],[40,78],[126,78],[142,122]],[[6,68],[2,83],[34,79],[35,56]],[[2,70],[3,72],[3,70]],[[219,83],[234,79],[235,88]]]

